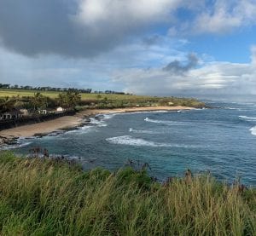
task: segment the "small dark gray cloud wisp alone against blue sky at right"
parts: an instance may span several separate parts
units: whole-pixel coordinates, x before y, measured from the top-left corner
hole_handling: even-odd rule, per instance
[[[180,60],[173,60],[167,66],[163,68],[163,71],[172,72],[173,74],[180,74],[183,72],[188,72],[190,69],[194,68],[198,63],[198,58],[195,54],[188,55],[188,61],[183,64]]]

